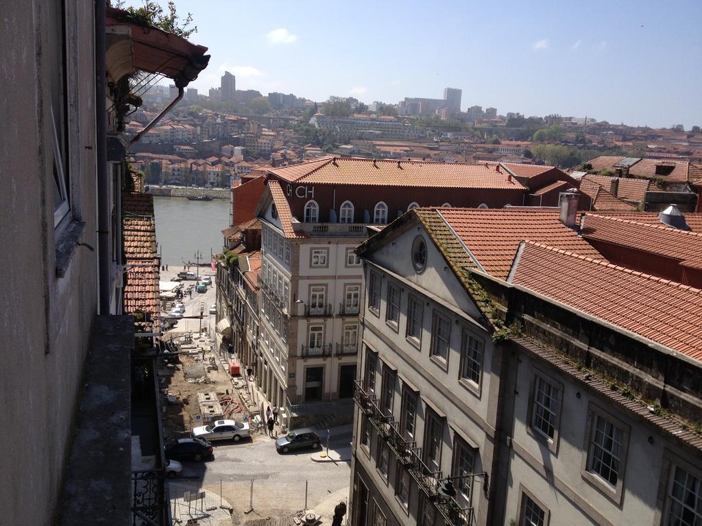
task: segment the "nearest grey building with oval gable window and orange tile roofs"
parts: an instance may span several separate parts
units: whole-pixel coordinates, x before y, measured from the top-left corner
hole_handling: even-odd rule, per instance
[[[702,295],[607,262],[576,200],[415,209],[357,249],[352,525],[701,520]]]

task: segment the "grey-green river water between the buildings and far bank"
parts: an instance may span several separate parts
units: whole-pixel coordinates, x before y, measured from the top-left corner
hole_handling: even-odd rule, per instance
[[[210,260],[213,253],[222,251],[222,231],[229,227],[230,202],[227,199],[190,201],[185,197],[154,196],[156,241],[159,243],[161,263],[183,268],[185,262]]]

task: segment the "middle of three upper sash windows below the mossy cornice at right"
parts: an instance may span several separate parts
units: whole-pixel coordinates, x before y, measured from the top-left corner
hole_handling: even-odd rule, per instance
[[[592,414],[588,471],[616,487],[623,464],[624,431],[602,414]]]

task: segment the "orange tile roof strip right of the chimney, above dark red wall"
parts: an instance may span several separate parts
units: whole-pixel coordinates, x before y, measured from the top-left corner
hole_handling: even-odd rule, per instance
[[[598,214],[585,214],[581,232],[585,239],[671,257],[690,267],[702,264],[702,232],[689,232],[666,227],[663,223],[654,225]]]

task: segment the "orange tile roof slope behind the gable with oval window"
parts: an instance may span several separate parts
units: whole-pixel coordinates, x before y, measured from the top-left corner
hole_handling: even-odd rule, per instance
[[[484,270],[507,278],[521,241],[538,241],[596,259],[600,252],[559,220],[557,209],[441,208],[437,210]]]

